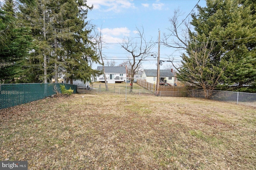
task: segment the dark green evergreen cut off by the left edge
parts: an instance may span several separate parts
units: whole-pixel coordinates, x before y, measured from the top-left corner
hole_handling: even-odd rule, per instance
[[[12,83],[21,72],[32,38],[28,27],[19,24],[14,3],[6,0],[0,9],[0,82]]]

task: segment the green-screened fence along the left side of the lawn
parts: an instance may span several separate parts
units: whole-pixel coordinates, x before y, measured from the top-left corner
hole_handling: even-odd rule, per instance
[[[28,84],[0,84],[0,109],[25,104],[60,92],[60,85],[66,89],[73,89],[76,93],[77,86],[64,83],[28,83]]]

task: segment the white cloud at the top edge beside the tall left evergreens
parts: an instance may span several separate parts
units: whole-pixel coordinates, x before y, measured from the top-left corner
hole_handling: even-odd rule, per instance
[[[121,12],[122,9],[135,8],[129,0],[87,0],[87,4],[90,6],[93,4],[93,9],[104,12]]]

